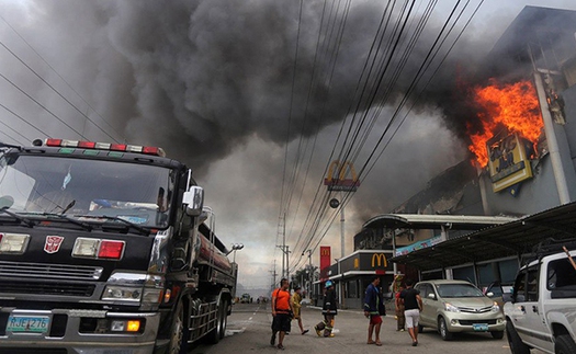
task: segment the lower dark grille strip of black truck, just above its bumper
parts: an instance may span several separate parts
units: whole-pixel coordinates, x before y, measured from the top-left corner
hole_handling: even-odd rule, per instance
[[[13,282],[0,279],[2,294],[34,294],[34,295],[63,295],[63,296],[92,296],[94,284],[78,283],[38,283]]]

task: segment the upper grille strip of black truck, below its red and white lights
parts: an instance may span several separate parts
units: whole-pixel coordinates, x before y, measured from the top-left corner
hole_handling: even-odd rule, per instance
[[[98,281],[102,270],[100,266],[0,261],[0,277]]]

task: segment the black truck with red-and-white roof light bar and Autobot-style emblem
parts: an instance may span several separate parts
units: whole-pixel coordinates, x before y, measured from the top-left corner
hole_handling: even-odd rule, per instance
[[[0,353],[185,353],[224,338],[237,266],[156,147],[0,144]]]

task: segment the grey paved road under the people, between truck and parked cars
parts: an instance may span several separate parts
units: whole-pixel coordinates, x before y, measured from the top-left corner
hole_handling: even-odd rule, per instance
[[[396,321],[393,316],[384,319],[381,340],[382,347],[368,345],[368,320],[360,311],[341,310],[336,317],[335,338],[318,338],[314,324],[321,319],[318,309],[303,308],[304,328],[310,329],[306,335],[301,335],[296,322],[292,322],[292,333],[284,340],[284,352],[293,353],[346,353],[360,354],[366,352],[386,353],[466,353],[466,354],[510,354],[506,336],[494,340],[489,333],[463,333],[453,341],[444,342],[432,330],[425,330],[418,336],[419,344],[410,345],[407,332],[396,332]],[[190,351],[191,354],[239,354],[248,352],[272,353],[281,352],[270,346],[270,323],[272,316],[270,305],[238,304],[228,318],[226,338],[216,345],[199,344]],[[533,354],[540,353],[533,351]]]

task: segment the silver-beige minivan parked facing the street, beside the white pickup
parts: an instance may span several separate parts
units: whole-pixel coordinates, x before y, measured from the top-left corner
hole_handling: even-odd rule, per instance
[[[504,338],[506,321],[500,307],[472,283],[426,281],[415,288],[423,302],[419,332],[433,328],[444,341],[452,340],[455,332],[490,332],[495,339]]]

